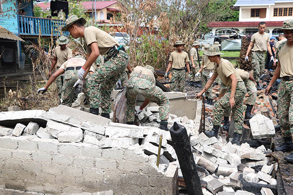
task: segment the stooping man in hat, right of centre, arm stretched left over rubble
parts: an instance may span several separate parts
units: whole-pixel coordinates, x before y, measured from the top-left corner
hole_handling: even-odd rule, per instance
[[[214,105],[213,109],[213,128],[210,132],[205,132],[208,137],[218,137],[219,127],[222,121],[224,110],[231,107],[232,118],[235,121],[235,130],[233,134],[232,144],[240,144],[240,137],[243,130],[243,99],[246,94],[246,88],[243,80],[236,72],[233,65],[226,59],[222,59],[219,47],[213,45],[206,52],[211,62],[216,63],[213,75],[209,79],[204,89],[197,94],[198,97],[209,89],[213,81],[220,77],[223,84],[229,87],[228,92],[223,98],[220,98]]]

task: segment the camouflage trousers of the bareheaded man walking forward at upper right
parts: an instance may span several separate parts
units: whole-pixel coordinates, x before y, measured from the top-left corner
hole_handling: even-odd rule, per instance
[[[265,70],[266,53],[251,53],[251,65],[253,68],[253,78],[256,82],[259,81],[261,74]]]

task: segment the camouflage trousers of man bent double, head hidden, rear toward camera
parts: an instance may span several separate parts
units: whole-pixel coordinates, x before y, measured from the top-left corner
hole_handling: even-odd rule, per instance
[[[160,119],[169,118],[169,99],[164,94],[163,90],[155,86],[151,78],[140,78],[131,76],[128,79],[126,88],[126,121],[134,121],[134,107],[136,96],[138,94],[144,96],[152,102],[158,104]]]

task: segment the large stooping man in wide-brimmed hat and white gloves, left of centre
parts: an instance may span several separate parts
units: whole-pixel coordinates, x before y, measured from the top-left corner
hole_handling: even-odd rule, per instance
[[[106,55],[107,61],[100,66],[91,76],[94,82],[90,83],[90,90],[100,87],[102,117],[110,118],[111,112],[111,92],[116,82],[121,77],[128,64],[128,55],[124,48],[111,35],[105,31],[94,27],[84,27],[86,20],[75,15],[70,16],[65,21],[63,31],[69,31],[70,35],[77,39],[84,38],[86,43],[86,62],[79,70],[79,78],[85,78],[87,69],[99,57]],[[93,97],[92,99],[94,99]],[[99,99],[96,99],[99,101]],[[92,109],[94,111],[94,108]]]

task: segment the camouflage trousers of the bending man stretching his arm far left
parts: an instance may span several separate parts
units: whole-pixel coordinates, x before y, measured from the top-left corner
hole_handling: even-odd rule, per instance
[[[78,80],[78,71],[67,70],[63,75],[64,75],[64,78],[63,78],[63,87],[62,87],[62,104],[66,106],[71,106],[72,103],[77,98],[77,94],[74,93],[73,85]],[[86,76],[86,78],[84,79],[83,92],[84,92],[86,101],[90,103],[89,96],[88,96],[89,95],[88,78],[89,76]]]

